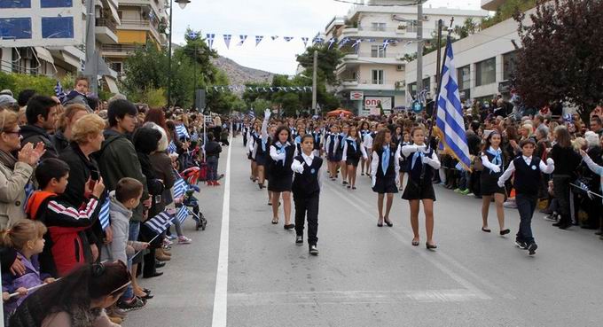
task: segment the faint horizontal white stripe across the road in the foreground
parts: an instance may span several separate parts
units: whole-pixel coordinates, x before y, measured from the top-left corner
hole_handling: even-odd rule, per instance
[[[322,304],[377,304],[402,302],[465,302],[489,300],[470,290],[426,291],[332,291],[332,292],[241,292],[229,294],[231,307],[322,305]]]

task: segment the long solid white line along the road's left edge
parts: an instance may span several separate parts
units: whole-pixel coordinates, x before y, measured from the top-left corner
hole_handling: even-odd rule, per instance
[[[218,269],[215,275],[213,327],[226,327],[228,308],[228,242],[231,220],[231,149],[232,131],[229,140],[228,155],[226,156],[226,171],[224,172],[224,200],[222,206],[222,229],[220,230],[220,252],[218,254]]]

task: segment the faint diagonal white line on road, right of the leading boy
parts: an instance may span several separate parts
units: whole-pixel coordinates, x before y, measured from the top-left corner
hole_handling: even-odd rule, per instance
[[[326,183],[325,183],[326,184]],[[352,196],[350,194],[348,194],[347,196],[344,196],[343,194],[341,194],[341,192],[337,191],[337,190],[333,190],[334,187],[332,185],[328,185],[327,187],[329,189],[332,189],[333,193],[336,194],[338,197],[340,197],[341,199],[343,199],[344,201],[348,202],[348,204],[350,206],[354,206],[356,207],[357,210],[364,212],[364,214],[366,214],[367,217],[372,217],[374,216],[374,213],[370,213],[368,210],[366,210],[366,208],[364,208],[363,206],[359,206],[358,202],[360,199],[356,198],[355,196]],[[350,197],[354,197],[356,198],[356,200],[353,199],[349,199]],[[392,229],[388,229],[392,235],[394,235],[395,238],[397,238],[398,240],[402,241],[402,242],[408,242],[408,240],[410,238],[408,237],[403,237],[402,234],[400,234],[399,232],[392,230]],[[447,268],[446,266],[444,266],[442,264],[442,262],[436,260],[434,258],[433,254],[438,254],[439,257],[445,256],[445,254],[442,253],[427,253],[427,251],[421,251],[419,250],[419,248],[412,248],[413,251],[419,253],[419,255],[425,259],[426,261],[428,261],[429,263],[431,263],[432,265],[434,265],[437,269],[440,269],[444,274],[450,276],[450,278],[454,279],[458,284],[463,285],[466,290],[468,290],[469,292],[472,292],[474,294],[476,294],[477,296],[479,296],[481,299],[490,299],[490,297],[488,295],[486,295],[486,293],[482,292],[482,290],[480,290],[477,286],[475,286],[474,284],[472,284],[471,282],[469,282],[468,280],[466,280],[465,278],[463,278],[462,276],[459,276],[457,273],[455,273],[454,271],[452,271],[451,269]]]

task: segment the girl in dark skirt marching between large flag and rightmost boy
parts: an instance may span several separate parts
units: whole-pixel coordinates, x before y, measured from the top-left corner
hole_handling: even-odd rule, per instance
[[[496,130],[491,132],[486,137],[486,144],[482,151],[482,166],[481,175],[482,187],[482,230],[489,233],[488,228],[488,213],[489,204],[494,197],[494,203],[497,206],[498,226],[500,227],[500,235],[506,235],[511,230],[505,229],[505,210],[503,202],[505,202],[505,188],[499,187],[497,182],[500,175],[503,175],[505,170],[505,153],[500,148],[502,136]]]

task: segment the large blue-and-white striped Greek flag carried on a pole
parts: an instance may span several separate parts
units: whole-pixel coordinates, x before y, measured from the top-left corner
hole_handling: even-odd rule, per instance
[[[444,151],[455,157],[459,163],[470,170],[469,147],[465,135],[463,108],[458,96],[457,69],[450,38],[446,43],[446,64],[442,67],[442,86],[437,99],[436,133],[444,145]]]

